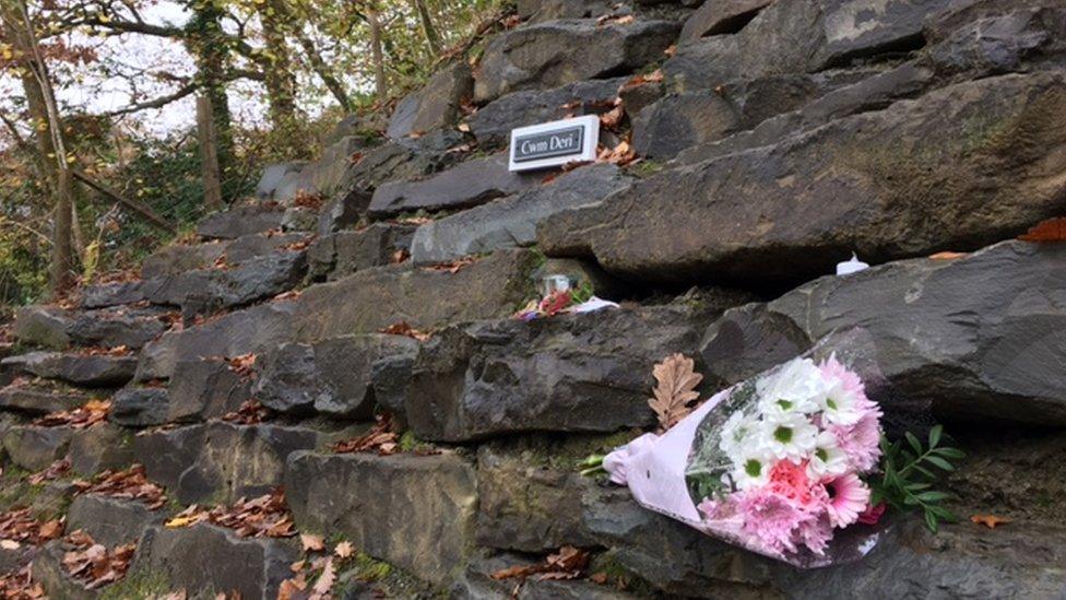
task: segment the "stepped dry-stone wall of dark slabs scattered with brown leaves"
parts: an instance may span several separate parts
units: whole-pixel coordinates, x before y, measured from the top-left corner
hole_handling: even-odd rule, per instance
[[[296,539],[164,523],[280,485],[296,529],[359,552],[337,561],[344,598],[1066,595],[1066,248],[1014,239],[1066,215],[1066,5],[521,0],[517,16],[387,125],[351,117],[319,160],[268,167],[257,199],[140,278],[22,309],[0,508],[134,541],[114,597],[276,597],[315,556]],[[512,128],[589,114],[639,160],[508,173]],[[874,267],[828,274],[852,251]],[[512,318],[545,273],[623,305]],[[851,327],[892,384],[889,422],[931,411],[968,451],[952,508],[1012,522],[933,536],[899,518],[862,563],[804,572],[578,474],[654,425],[667,354],[695,357],[709,393]],[[368,431],[386,446],[335,451]],[[132,463],[169,503],[71,482]],[[491,577],[565,545],[595,576]],[[99,596],[63,549],[4,545],[0,564]]]

